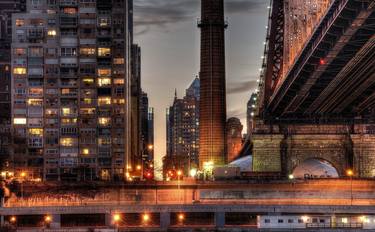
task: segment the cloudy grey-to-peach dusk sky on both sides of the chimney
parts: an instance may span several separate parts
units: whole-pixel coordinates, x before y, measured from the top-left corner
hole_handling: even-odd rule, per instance
[[[225,0],[228,118],[246,126],[246,103],[257,86],[268,0]],[[155,158],[166,153],[166,108],[199,72],[199,0],[134,0],[135,43],[142,49],[142,88],[155,108]],[[244,129],[245,132],[245,129]]]

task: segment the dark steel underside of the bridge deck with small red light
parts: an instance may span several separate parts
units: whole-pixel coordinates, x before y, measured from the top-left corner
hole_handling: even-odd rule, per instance
[[[265,120],[374,121],[374,7],[372,1],[333,3],[275,89]]]

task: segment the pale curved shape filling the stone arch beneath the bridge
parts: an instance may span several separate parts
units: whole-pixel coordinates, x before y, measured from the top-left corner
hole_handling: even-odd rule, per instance
[[[294,178],[338,178],[337,170],[329,162],[321,159],[308,159],[293,171]]]

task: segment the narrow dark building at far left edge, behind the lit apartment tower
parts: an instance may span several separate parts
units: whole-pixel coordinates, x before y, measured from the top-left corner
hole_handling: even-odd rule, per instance
[[[0,1],[0,168],[9,169],[11,149],[12,14],[26,10],[26,0]]]

